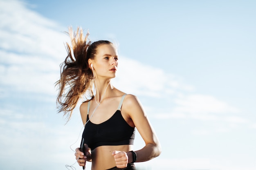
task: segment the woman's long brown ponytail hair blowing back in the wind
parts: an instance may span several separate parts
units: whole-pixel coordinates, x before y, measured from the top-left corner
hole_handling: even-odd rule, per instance
[[[59,90],[56,99],[58,113],[64,112],[64,116],[67,116],[67,121],[70,120],[72,111],[79,99],[86,92],[89,92],[91,99],[94,97],[92,93],[94,75],[89,67],[88,60],[94,59],[99,45],[112,44],[106,40],[91,44],[88,41],[89,32],[83,38],[83,30],[79,27],[74,33],[72,28],[69,28],[68,35],[72,46],[66,43],[67,57],[60,65],[61,77],[55,83]]]

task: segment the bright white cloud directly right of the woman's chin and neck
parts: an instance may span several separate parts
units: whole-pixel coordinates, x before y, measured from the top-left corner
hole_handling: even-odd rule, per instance
[[[113,82],[125,91],[157,98],[178,95],[179,91],[193,91],[192,86],[184,84],[176,75],[122,56]]]

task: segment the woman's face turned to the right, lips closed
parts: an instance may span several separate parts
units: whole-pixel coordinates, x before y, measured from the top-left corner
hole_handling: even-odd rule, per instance
[[[97,54],[92,60],[94,76],[114,78],[117,71],[117,49],[112,44],[97,47]]]

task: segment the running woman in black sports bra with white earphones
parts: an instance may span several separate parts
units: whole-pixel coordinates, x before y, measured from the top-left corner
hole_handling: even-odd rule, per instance
[[[87,42],[89,34],[83,39],[79,28],[74,34],[69,31],[72,49],[67,43],[57,102],[59,112],[70,119],[79,99],[90,92],[90,99],[80,106],[85,129],[81,148],[75,153],[79,165],[84,168],[86,161],[91,161],[92,170],[135,170],[134,162],[159,156],[159,141],[139,100],[110,82],[117,72],[116,47],[109,41]],[[135,127],[145,146],[133,151]]]

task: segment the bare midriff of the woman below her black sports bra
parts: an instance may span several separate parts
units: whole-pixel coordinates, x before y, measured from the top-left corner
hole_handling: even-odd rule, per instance
[[[99,146],[92,150],[92,170],[107,170],[116,166],[112,152],[115,150],[129,152],[133,145]]]

